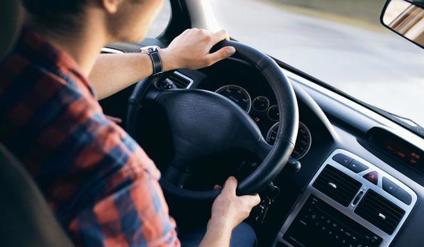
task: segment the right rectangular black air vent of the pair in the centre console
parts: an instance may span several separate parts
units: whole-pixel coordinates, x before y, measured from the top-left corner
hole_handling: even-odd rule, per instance
[[[391,235],[405,211],[372,190],[368,190],[355,213]]]

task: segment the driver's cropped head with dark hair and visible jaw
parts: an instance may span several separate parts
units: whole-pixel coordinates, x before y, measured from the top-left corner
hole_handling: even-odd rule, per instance
[[[163,1],[22,0],[30,21],[39,28],[72,34],[88,23],[96,23],[104,28],[108,41],[143,39]]]

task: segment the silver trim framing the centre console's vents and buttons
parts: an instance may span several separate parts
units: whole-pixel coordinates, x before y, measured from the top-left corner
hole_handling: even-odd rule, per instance
[[[344,167],[343,165],[337,163],[336,161],[334,161],[332,159],[332,157],[334,155],[338,154],[338,153],[345,154],[345,155],[347,155],[347,156],[349,156],[349,157],[351,157],[351,158],[353,158],[357,161],[360,161],[360,162],[364,163],[365,165],[367,165],[369,168],[365,171],[360,172],[360,173],[355,173],[355,172],[349,170],[348,168]],[[371,224],[367,220],[358,216],[354,212],[357,204],[353,205],[353,203],[351,203],[348,207],[344,207],[343,205],[339,204],[338,202],[336,202],[335,200],[328,197],[327,195],[325,195],[324,193],[320,192],[319,190],[315,189],[312,186],[312,184],[315,182],[316,178],[319,176],[321,171],[327,165],[331,165],[333,167],[336,167],[341,172],[343,172],[343,173],[349,175],[350,177],[354,178],[355,180],[361,182],[362,187],[361,187],[361,189],[359,190],[358,193],[360,193],[361,191],[366,192],[368,189],[373,189],[375,192],[377,192],[378,194],[380,194],[384,198],[388,199],[389,201],[391,201],[392,203],[394,203],[398,207],[405,210],[405,215],[403,216],[402,220],[400,221],[399,225],[397,226],[397,228],[395,229],[393,234],[389,235],[389,234],[385,233],[384,231],[380,230],[378,227],[374,226],[373,224]],[[375,185],[375,184],[369,182],[368,180],[366,180],[365,178],[363,178],[363,175],[365,175],[365,174],[367,174],[368,172],[371,172],[371,171],[376,171],[380,174],[377,185]],[[390,179],[392,182],[394,182],[396,185],[398,185],[399,187],[401,187],[402,189],[407,191],[412,196],[412,202],[411,202],[410,205],[406,205],[405,203],[401,202],[396,197],[390,195],[389,193],[387,193],[386,191],[383,190],[383,188],[382,188],[382,178],[383,178],[383,176]],[[329,204],[333,208],[337,209],[338,211],[340,211],[341,213],[343,213],[347,217],[349,217],[352,220],[356,221],[357,223],[361,224],[366,229],[368,229],[371,232],[373,232],[374,234],[380,236],[383,239],[383,242],[381,243],[380,246],[384,246],[384,247],[389,246],[390,243],[393,241],[396,234],[399,232],[399,229],[405,223],[405,220],[408,218],[409,214],[411,213],[412,209],[415,206],[415,203],[417,202],[417,195],[415,194],[415,192],[412,189],[410,189],[409,187],[407,187],[406,185],[404,185],[403,183],[401,183],[399,180],[393,178],[392,176],[390,176],[386,172],[382,171],[378,167],[374,166],[373,164],[369,163],[368,161],[366,161],[366,160],[364,160],[364,159],[362,159],[362,158],[360,158],[360,157],[358,157],[358,156],[356,156],[356,155],[354,155],[350,152],[338,149],[338,150],[335,150],[327,158],[327,160],[323,163],[323,165],[321,166],[319,171],[315,174],[314,178],[309,183],[306,191],[299,197],[299,199],[295,203],[295,206],[294,206],[292,212],[290,213],[289,217],[287,218],[287,220],[283,224],[277,238],[275,239],[274,245],[277,242],[282,242],[282,243],[284,243],[288,246],[292,246],[290,243],[288,243],[286,240],[283,239],[283,236],[287,232],[287,230],[289,229],[290,225],[292,224],[292,222],[294,221],[294,219],[296,218],[296,216],[298,215],[298,213],[300,212],[300,210],[302,209],[303,205],[306,203],[306,201],[307,201],[307,199],[309,198],[310,195],[314,195],[314,196],[318,197],[319,199],[323,200],[324,202],[326,202],[327,204]],[[362,200],[362,198],[361,198],[361,200]],[[382,217],[382,216],[380,216],[380,217]]]

